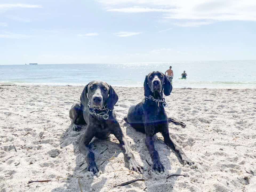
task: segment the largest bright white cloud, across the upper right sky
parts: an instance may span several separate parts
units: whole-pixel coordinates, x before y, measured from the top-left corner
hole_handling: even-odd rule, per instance
[[[255,0],[99,0],[99,2],[105,5],[107,11],[122,13],[159,12],[163,19],[256,21]],[[187,26],[198,26],[197,24],[190,23]]]

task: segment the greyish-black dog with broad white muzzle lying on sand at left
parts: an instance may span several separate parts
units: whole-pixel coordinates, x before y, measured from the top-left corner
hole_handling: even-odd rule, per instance
[[[124,156],[129,162],[129,169],[141,173],[143,171],[143,167],[135,161],[113,111],[117,101],[118,96],[110,85],[101,81],[92,81],[83,89],[80,102],[75,102],[69,111],[69,117],[75,124],[74,130],[79,131],[82,126],[86,126],[79,149],[87,158],[87,171],[94,174],[99,170],[89,143],[93,137],[105,139],[109,134],[114,134],[120,142]]]

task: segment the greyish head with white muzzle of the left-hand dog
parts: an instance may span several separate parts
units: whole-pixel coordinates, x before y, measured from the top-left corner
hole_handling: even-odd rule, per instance
[[[103,109],[106,106],[113,110],[118,96],[112,86],[106,82],[91,81],[83,89],[80,101],[84,106],[90,102],[91,107]]]

